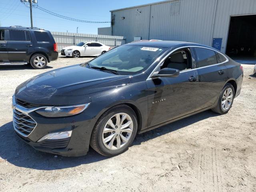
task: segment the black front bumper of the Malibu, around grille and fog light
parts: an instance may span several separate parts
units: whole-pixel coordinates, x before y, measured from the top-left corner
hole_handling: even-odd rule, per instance
[[[13,110],[26,114],[36,122],[36,126],[30,133],[22,133],[16,128],[14,119],[14,130],[18,137],[36,150],[62,156],[82,156],[86,155],[89,149],[89,142],[92,129],[96,120],[86,113],[62,118],[46,118],[37,114],[38,108],[27,109],[17,105],[13,97]],[[88,107],[89,108],[89,107]],[[70,138],[58,140],[42,140],[43,136],[54,133],[72,130]]]

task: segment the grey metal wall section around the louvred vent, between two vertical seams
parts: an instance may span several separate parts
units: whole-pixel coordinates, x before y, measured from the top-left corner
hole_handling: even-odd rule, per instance
[[[209,44],[214,0],[181,0],[179,14],[176,15],[170,13],[172,3],[151,6],[149,39]]]

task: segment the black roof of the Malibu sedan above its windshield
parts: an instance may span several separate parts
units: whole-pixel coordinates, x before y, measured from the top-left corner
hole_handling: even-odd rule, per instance
[[[182,46],[201,46],[201,47],[214,49],[214,48],[206,46],[206,45],[192,43],[192,42],[183,42],[183,41],[138,41],[138,42],[129,43],[128,45],[155,46],[155,47],[164,47],[164,48],[172,48],[174,46],[180,46],[180,47],[182,47]]]

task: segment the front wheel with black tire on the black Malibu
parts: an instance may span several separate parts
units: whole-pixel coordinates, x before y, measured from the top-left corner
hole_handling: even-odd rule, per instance
[[[90,146],[104,156],[123,153],[132,144],[138,129],[136,114],[126,105],[106,111],[97,121]]]

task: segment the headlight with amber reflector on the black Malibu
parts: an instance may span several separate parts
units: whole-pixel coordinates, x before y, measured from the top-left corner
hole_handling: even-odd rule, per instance
[[[36,110],[36,112],[44,117],[66,117],[82,113],[90,103],[74,105],[74,106],[55,106],[46,107]]]

